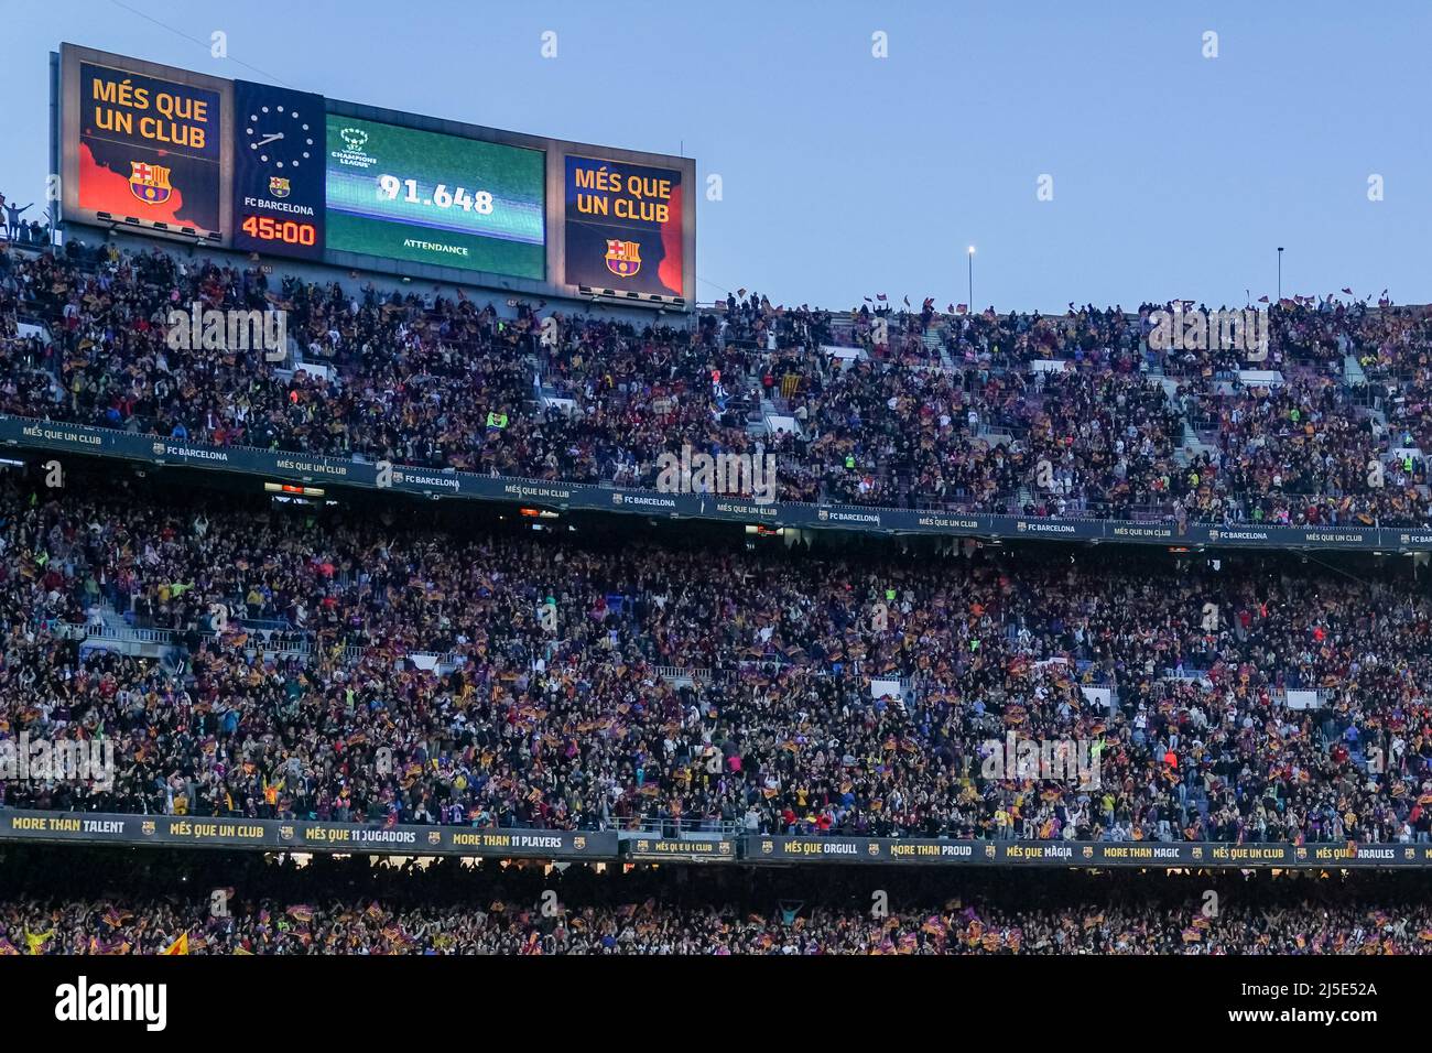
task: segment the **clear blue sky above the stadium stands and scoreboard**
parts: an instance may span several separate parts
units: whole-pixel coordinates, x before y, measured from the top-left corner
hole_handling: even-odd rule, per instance
[[[147,16],[147,17],[146,17]],[[162,23],[162,24],[156,24]],[[213,59],[213,30],[228,59]],[[557,57],[541,34],[557,34]],[[1203,57],[1203,34],[1219,54]],[[0,189],[43,195],[60,40],[695,156],[697,294],[1001,309],[1432,299],[1432,6],[52,0],[0,19]],[[882,32],[888,57],[872,56]],[[1037,181],[1053,176],[1053,201]],[[1368,199],[1382,176],[1383,201]]]

